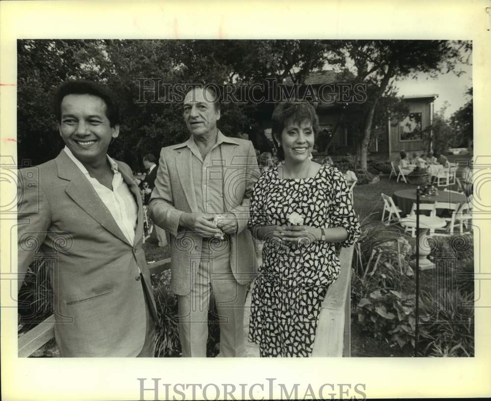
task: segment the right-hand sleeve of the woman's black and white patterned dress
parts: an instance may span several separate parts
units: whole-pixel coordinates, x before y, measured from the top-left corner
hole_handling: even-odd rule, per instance
[[[337,169],[331,170],[331,193],[332,199],[329,206],[330,226],[344,227],[348,232],[348,238],[340,243],[347,247],[353,245],[361,235],[360,224],[353,210],[353,204],[348,192],[348,187],[343,175]]]

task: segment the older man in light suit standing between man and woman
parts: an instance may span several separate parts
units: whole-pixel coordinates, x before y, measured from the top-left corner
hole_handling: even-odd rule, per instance
[[[241,356],[246,285],[255,270],[246,224],[259,171],[256,154],[250,141],[218,130],[220,105],[212,88],[191,88],[183,115],[191,136],[162,149],[150,199],[154,223],[171,234],[171,288],[178,296],[183,356],[206,356],[211,291],[220,356]]]

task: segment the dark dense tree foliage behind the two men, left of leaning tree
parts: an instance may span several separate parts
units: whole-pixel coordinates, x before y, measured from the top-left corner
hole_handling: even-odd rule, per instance
[[[138,102],[139,79],[240,84],[290,77],[302,82],[309,71],[323,66],[327,54],[334,54],[328,52],[331,48],[315,40],[19,40],[19,163],[39,164],[61,150],[52,94],[64,80],[108,84],[122,115],[120,136],[109,152],[138,169],[144,154],[157,155],[162,146],[189,135],[178,102]],[[257,130],[256,108],[250,103],[223,105],[220,129],[230,136]]]

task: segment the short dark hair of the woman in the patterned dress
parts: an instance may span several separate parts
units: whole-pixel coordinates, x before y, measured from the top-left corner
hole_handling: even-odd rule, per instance
[[[312,124],[314,138],[317,138],[319,132],[319,117],[315,112],[315,108],[307,102],[284,102],[279,103],[273,111],[271,132],[275,141],[279,160],[285,160],[283,148],[279,146],[276,136],[281,138],[285,125],[289,122],[301,124],[304,121],[309,121]]]

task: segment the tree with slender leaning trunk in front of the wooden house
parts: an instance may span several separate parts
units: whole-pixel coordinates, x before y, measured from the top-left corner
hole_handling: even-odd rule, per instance
[[[376,107],[382,95],[394,80],[428,73],[455,72],[459,62],[470,52],[470,42],[446,40],[349,40],[344,45],[349,60],[347,68],[355,75],[354,83],[367,83],[373,87],[362,107],[361,140],[358,147],[360,168],[367,170],[367,152],[370,143]]]

